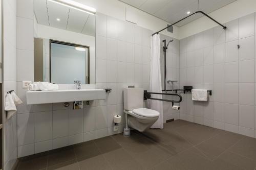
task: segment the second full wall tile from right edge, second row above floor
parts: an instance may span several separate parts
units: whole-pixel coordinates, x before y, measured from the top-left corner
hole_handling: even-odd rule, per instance
[[[225,104],[225,123],[238,125],[238,105]]]

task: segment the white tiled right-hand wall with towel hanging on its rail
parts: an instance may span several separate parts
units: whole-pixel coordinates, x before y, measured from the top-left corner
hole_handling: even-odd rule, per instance
[[[180,40],[180,87],[212,90],[208,102],[185,94],[180,118],[256,137],[255,14],[225,25]]]

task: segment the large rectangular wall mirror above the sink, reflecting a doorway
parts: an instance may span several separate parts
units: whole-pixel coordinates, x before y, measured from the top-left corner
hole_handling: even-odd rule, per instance
[[[34,81],[95,84],[95,15],[34,1]]]

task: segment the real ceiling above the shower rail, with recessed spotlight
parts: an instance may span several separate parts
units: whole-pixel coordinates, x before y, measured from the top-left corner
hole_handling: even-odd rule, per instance
[[[125,4],[136,7],[169,23],[174,23],[190,14],[201,10],[206,14],[215,11],[236,0],[119,0]],[[187,23],[202,17],[203,14],[195,14],[179,23],[181,27]]]

